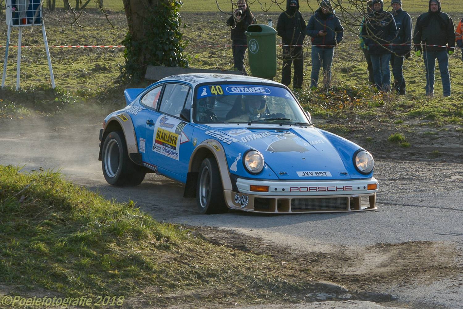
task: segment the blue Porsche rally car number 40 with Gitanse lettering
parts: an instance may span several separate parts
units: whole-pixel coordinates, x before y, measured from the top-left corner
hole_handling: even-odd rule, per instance
[[[100,131],[111,185],[138,185],[155,172],[184,183],[202,214],[376,209],[371,154],[314,127],[278,82],[184,74],[126,89],[125,99]]]

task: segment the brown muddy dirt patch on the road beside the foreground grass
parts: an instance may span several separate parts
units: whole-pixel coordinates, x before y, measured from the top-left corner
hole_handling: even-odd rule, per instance
[[[306,301],[357,299],[405,308],[437,309],[439,307],[424,303],[400,303],[394,295],[381,291],[390,286],[431,284],[442,278],[457,277],[463,271],[463,254],[447,242],[378,243],[365,247],[330,247],[323,252],[298,252],[236,231],[190,228],[215,245],[269,255],[280,261],[294,277],[310,273],[313,286],[304,295]]]

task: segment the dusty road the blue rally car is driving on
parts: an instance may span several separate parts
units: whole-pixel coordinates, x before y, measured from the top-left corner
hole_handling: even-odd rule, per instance
[[[360,302],[353,307],[348,301],[353,293],[383,306],[463,308],[463,164],[376,160],[377,211],[200,215],[194,199],[181,197],[183,187],[164,177],[149,175],[136,188],[107,185],[98,161],[102,117],[1,120],[0,164],[61,169],[108,198],[136,201],[159,221],[199,227],[225,246],[299,259],[314,277],[349,290],[311,296],[319,302],[346,297],[338,307],[297,308],[380,308]]]

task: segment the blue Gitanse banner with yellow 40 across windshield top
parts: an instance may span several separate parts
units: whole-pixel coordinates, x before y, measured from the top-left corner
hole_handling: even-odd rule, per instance
[[[265,86],[265,85],[205,85],[198,87],[197,99],[206,98],[216,95],[269,95],[282,98],[290,98],[293,96],[281,87]]]

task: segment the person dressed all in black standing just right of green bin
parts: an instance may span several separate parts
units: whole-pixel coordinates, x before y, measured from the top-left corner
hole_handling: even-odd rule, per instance
[[[289,86],[291,83],[291,63],[294,63],[293,88],[302,88],[305,29],[306,21],[299,12],[299,0],[287,0],[286,11],[278,17],[276,31],[283,43],[282,84]]]

